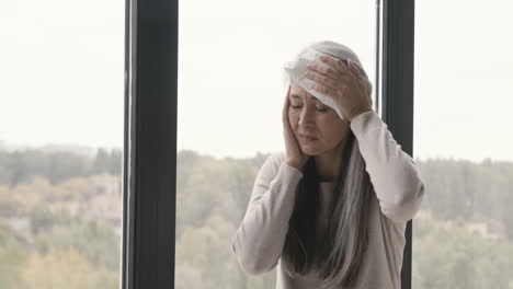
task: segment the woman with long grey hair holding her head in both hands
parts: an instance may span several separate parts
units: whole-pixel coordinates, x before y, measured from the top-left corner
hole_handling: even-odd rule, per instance
[[[346,117],[289,80],[285,152],[261,167],[232,251],[247,274],[277,267],[278,289],[400,288],[406,224],[424,195],[418,167],[373,111],[357,56],[334,42],[307,48],[333,69],[312,62],[306,77]]]

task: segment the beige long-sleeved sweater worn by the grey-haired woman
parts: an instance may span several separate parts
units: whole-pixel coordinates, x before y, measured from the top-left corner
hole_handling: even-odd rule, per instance
[[[358,115],[351,123],[351,129],[376,190],[368,218],[369,247],[354,288],[398,289],[401,288],[406,224],[421,206],[424,185],[412,158],[401,150],[378,114]],[[281,267],[295,190],[303,177],[301,171],[284,160],[284,152],[271,154],[258,173],[231,248],[247,274],[258,275],[276,268],[276,289],[319,288],[317,276],[293,277]],[[332,182],[320,183],[321,215],[328,209],[333,185]]]

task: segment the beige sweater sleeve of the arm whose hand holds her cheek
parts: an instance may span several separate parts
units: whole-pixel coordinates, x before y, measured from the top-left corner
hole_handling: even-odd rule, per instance
[[[274,155],[260,169],[244,218],[231,239],[244,273],[258,275],[277,265],[301,177],[301,171]]]

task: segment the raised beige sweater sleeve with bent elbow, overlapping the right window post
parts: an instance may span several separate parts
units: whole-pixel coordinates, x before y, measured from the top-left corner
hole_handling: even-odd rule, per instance
[[[401,150],[376,112],[356,116],[350,126],[358,141],[381,212],[396,222],[409,221],[424,196],[424,184],[413,159]]]

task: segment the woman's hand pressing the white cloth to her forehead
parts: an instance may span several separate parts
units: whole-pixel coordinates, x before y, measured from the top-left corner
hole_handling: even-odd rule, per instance
[[[321,56],[319,59],[335,69],[309,63],[306,77],[316,81],[314,90],[332,97],[349,122],[362,113],[373,111],[368,102],[367,86],[358,68],[351,60],[347,60],[345,66],[342,60],[332,56]]]

